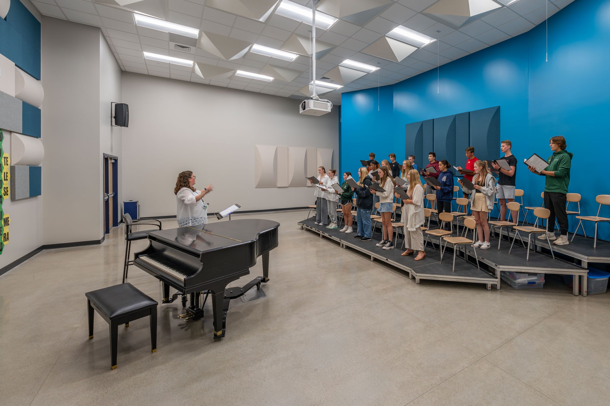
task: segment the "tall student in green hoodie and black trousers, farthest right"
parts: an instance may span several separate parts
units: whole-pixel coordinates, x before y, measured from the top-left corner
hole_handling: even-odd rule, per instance
[[[547,219],[547,235],[549,240],[555,240],[554,226],[555,218],[559,223],[561,235],[553,244],[567,245],[568,241],[568,215],[565,212],[565,204],[570,184],[570,168],[572,168],[572,152],[565,151],[565,138],[561,135],[551,138],[549,141],[553,155],[548,157],[548,166],[538,173],[536,169],[528,165],[530,171],[545,176],[544,185],[544,207],[550,210],[551,215]],[[542,237],[542,238],[540,238]],[[545,235],[538,237],[546,240]]]

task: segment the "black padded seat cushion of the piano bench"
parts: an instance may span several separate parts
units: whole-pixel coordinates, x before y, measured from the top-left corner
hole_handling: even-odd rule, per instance
[[[146,296],[131,283],[93,290],[85,293],[85,296],[109,319],[157,305],[154,299]]]

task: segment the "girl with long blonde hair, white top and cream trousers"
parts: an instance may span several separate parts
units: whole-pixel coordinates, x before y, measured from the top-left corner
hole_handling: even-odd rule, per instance
[[[404,244],[407,249],[400,255],[406,257],[418,251],[415,260],[420,261],[426,257],[426,253],[423,251],[423,233],[421,229],[426,221],[423,214],[423,185],[417,169],[411,169],[407,173],[407,180],[409,182],[405,183],[405,186],[407,186],[407,196],[409,196],[409,199],[403,201],[403,214],[401,216],[404,224]],[[400,194],[397,193],[396,197],[400,197]]]

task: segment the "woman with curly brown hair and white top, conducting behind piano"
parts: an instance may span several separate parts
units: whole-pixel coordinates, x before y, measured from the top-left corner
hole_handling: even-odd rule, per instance
[[[196,190],[195,175],[191,171],[178,174],[174,194],[176,195],[176,219],[179,227],[207,224],[207,203],[203,196],[214,189],[212,184],[203,190]]]

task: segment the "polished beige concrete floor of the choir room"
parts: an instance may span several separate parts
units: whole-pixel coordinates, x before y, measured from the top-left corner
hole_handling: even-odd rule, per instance
[[[84,293],[121,282],[123,227],[97,246],[43,251],[0,276],[0,405],[608,405],[610,293],[423,280],[281,223],[267,297],[231,302],[226,337],[159,305],[120,327],[110,369],[106,322],[88,340]],[[164,228],[176,221],[163,221]],[[135,251],[146,246],[134,243]],[[412,257],[407,257],[407,263]],[[233,285],[262,274],[262,265]],[[157,301],[160,283],[131,268]]]

